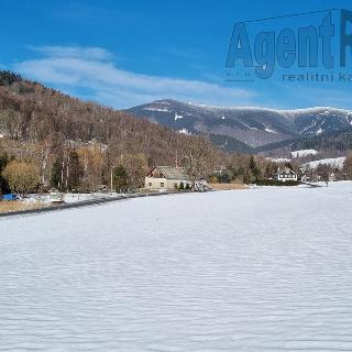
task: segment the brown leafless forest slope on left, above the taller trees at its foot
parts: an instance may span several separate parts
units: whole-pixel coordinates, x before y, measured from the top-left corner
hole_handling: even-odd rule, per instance
[[[144,153],[148,164],[170,163],[178,146],[196,141],[10,73],[2,73],[0,85],[0,130],[14,141],[98,142],[116,151]]]

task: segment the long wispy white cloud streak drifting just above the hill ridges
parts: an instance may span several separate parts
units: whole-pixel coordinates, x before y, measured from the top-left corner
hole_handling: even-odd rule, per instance
[[[249,106],[254,91],[201,80],[148,76],[117,67],[113,55],[100,47],[44,46],[42,56],[15,65],[28,78],[116,108],[172,98],[209,105]]]

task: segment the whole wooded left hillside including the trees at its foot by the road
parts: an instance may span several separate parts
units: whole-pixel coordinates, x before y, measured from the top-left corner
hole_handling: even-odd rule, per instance
[[[109,186],[112,169],[114,186],[140,187],[154,165],[185,166],[195,177],[238,165],[237,177],[251,175],[250,156],[227,154],[205,136],[84,102],[10,72],[0,73],[0,162],[2,189],[18,170],[36,175],[40,187],[85,190]],[[36,188],[30,186],[16,190]]]

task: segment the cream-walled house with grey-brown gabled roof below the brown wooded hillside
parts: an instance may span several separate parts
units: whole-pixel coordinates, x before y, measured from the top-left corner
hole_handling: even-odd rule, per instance
[[[155,166],[146,174],[144,187],[173,190],[182,184],[185,188],[191,187],[191,178],[184,167]]]

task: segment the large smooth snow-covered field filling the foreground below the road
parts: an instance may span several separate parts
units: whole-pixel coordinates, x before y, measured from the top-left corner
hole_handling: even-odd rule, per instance
[[[1,351],[352,351],[351,183],[0,220]]]

